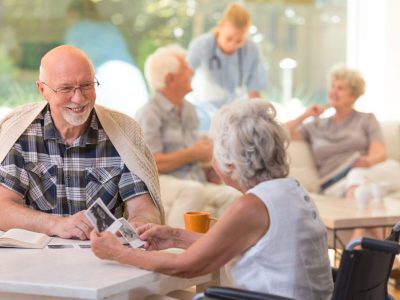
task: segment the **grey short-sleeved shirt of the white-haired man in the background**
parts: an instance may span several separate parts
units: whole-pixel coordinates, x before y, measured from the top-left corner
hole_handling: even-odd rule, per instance
[[[172,103],[156,93],[137,113],[144,138],[153,153],[176,152],[199,140],[198,120],[192,104],[183,102],[180,114]],[[206,182],[203,169],[197,163],[184,165],[169,175],[181,179]]]

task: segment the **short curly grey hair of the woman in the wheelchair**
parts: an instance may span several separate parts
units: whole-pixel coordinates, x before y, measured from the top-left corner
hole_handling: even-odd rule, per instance
[[[270,103],[252,99],[227,105],[213,117],[214,160],[221,172],[246,190],[289,173],[289,140],[275,116]]]

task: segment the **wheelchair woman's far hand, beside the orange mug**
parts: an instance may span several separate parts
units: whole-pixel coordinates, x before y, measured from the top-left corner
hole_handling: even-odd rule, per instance
[[[177,228],[157,224],[145,224],[136,228],[137,234],[145,241],[146,250],[162,250],[175,247]]]

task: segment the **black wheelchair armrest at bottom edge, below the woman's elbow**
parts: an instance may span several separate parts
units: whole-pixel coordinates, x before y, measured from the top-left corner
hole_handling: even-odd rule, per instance
[[[282,296],[228,287],[209,287],[204,291],[204,295],[226,300],[293,300]]]

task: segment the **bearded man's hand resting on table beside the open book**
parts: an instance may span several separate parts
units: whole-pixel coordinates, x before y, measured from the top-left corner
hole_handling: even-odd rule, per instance
[[[88,240],[93,226],[86,218],[85,211],[80,211],[69,217],[59,217],[53,229],[53,235],[64,239],[79,238]]]

